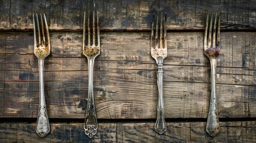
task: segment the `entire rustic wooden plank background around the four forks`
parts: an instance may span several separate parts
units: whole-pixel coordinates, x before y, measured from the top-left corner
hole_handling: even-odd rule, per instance
[[[99,128],[88,138],[84,117],[88,64],[82,55],[85,10],[100,11],[101,54],[94,65]],[[206,13],[221,10],[217,64],[220,133],[205,131],[211,92],[203,54]],[[167,13],[164,60],[167,130],[154,130],[158,90],[150,55],[153,12]],[[45,96],[51,132],[35,132],[38,61],[32,14],[45,13],[51,54]],[[0,0],[1,142],[256,142],[256,1]]]

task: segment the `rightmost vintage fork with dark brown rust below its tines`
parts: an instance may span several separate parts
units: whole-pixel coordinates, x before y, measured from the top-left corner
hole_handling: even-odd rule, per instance
[[[212,29],[212,15],[211,21],[209,23],[209,34],[208,33],[208,18],[207,14],[206,24],[205,24],[205,37],[203,40],[203,47],[205,55],[209,58],[211,62],[211,101],[209,105],[209,114],[206,123],[206,132],[211,136],[217,135],[220,131],[220,123],[218,120],[218,110],[217,110],[217,100],[216,100],[216,69],[217,69],[217,57],[220,52],[220,20],[221,14],[218,18],[218,30],[217,30],[217,42],[216,41],[216,23],[217,23],[217,13],[215,14],[214,26]],[[213,30],[213,32],[212,32]]]

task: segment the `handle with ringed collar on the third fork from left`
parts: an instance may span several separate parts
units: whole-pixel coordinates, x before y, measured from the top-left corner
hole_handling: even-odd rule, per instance
[[[166,130],[165,125],[165,111],[164,111],[164,97],[163,97],[163,58],[158,57],[158,118],[156,119],[155,130],[162,134]]]

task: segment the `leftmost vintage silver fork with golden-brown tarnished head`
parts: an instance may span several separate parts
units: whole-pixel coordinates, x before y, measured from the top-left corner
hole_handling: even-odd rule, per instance
[[[44,96],[44,60],[50,54],[50,36],[45,14],[43,15],[40,14],[40,17],[38,17],[38,14],[33,14],[34,53],[38,58],[39,64],[39,109],[38,119],[36,121],[36,133],[41,137],[44,137],[50,132],[50,123]],[[36,31],[38,35],[36,35]]]

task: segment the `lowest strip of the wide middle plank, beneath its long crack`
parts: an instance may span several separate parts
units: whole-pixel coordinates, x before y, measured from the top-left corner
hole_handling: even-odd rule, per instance
[[[38,83],[6,82],[5,85],[0,117],[37,117]],[[156,118],[156,80],[147,84],[122,80],[94,82],[94,87],[99,119]],[[48,116],[84,119],[87,88],[87,83],[82,82],[45,82]],[[209,83],[164,82],[165,117],[206,118],[210,92]],[[255,86],[217,85],[217,105],[223,118],[256,117]]]

